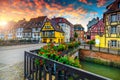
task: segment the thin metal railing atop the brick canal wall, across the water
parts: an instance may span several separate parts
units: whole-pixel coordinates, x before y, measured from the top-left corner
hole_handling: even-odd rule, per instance
[[[88,45],[88,44],[82,44],[82,45],[80,45],[80,48],[86,49],[86,50],[120,55],[120,49],[118,49],[118,48],[102,48],[102,47],[95,47],[94,45]]]

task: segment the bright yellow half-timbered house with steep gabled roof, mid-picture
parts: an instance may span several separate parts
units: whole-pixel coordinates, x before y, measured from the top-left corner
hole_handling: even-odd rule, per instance
[[[41,28],[41,38],[43,43],[61,43],[64,42],[64,32],[55,22],[46,21]]]

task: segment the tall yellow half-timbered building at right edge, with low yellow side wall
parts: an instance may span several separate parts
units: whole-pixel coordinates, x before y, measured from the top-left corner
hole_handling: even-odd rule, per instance
[[[96,46],[120,49],[120,0],[107,6],[104,13],[105,34],[96,36]]]

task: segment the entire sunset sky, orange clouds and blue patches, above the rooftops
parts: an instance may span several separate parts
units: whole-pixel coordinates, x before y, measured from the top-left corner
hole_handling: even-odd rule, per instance
[[[114,0],[0,0],[0,22],[18,21],[38,16],[64,17],[87,30],[88,21],[103,17],[106,6]]]

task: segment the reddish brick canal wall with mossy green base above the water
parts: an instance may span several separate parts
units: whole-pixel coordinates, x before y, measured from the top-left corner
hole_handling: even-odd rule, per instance
[[[79,58],[88,62],[120,68],[120,55],[80,49]]]

